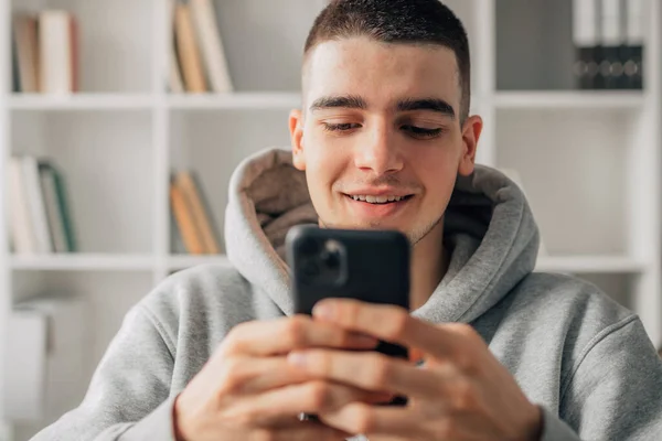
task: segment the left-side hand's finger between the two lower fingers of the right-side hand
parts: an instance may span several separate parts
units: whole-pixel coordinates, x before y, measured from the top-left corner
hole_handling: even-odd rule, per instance
[[[286,386],[243,399],[233,409],[236,415],[256,416],[258,424],[268,426],[287,417],[333,411],[353,401],[366,401],[374,394],[329,381],[308,381]]]

